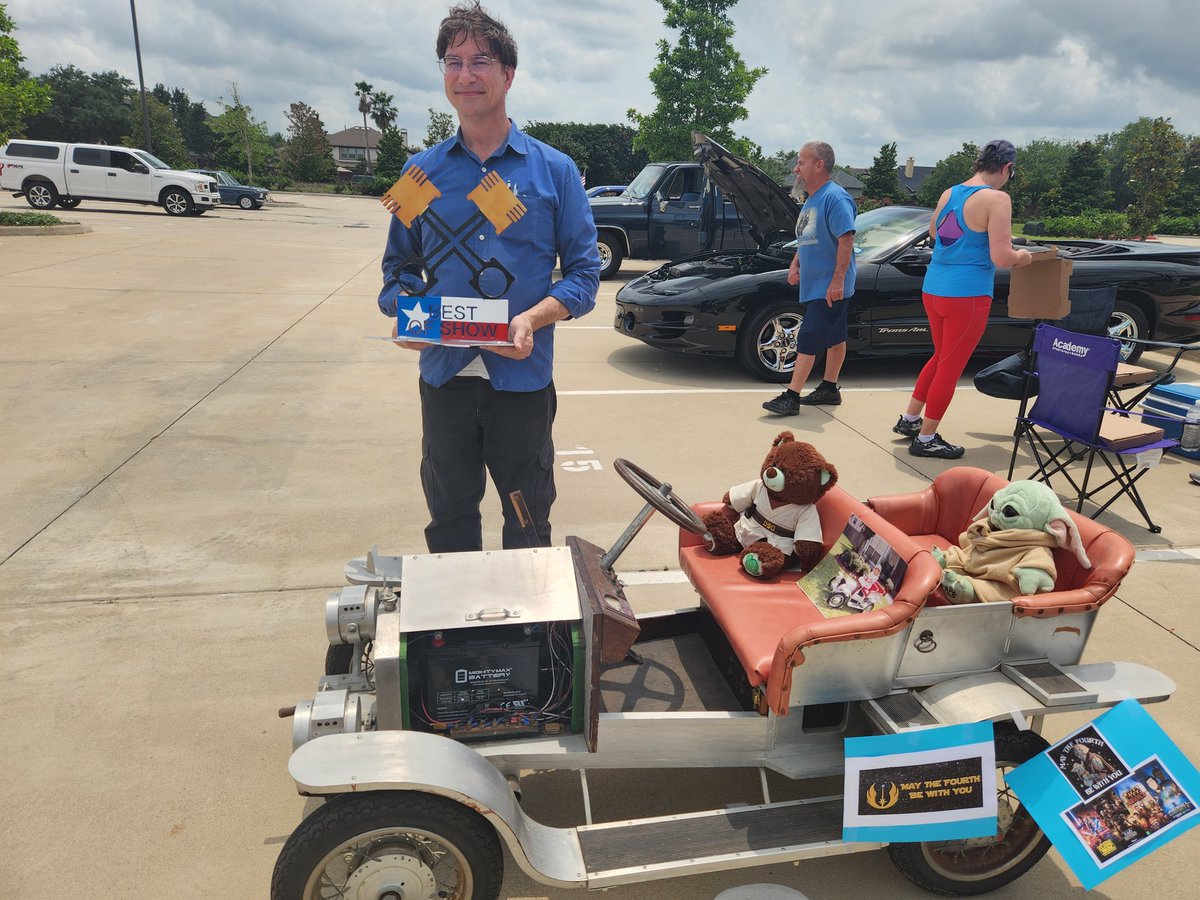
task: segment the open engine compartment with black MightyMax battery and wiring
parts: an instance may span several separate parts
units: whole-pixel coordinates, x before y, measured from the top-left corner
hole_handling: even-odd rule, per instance
[[[470,740],[569,722],[572,660],[552,628],[491,625],[408,635],[409,726]]]

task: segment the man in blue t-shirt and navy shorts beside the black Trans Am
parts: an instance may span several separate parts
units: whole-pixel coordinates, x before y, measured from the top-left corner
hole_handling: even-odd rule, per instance
[[[796,257],[787,283],[799,284],[805,304],[796,335],[796,367],[787,390],[762,408],[773,415],[797,415],[802,406],[838,406],[838,377],[846,361],[846,325],[854,295],[854,217],[858,209],[846,188],[830,180],[833,148],[810,140],[800,148],[796,178],[809,194],[796,222]],[[806,396],[800,389],[821,352],[826,354],[824,380]]]

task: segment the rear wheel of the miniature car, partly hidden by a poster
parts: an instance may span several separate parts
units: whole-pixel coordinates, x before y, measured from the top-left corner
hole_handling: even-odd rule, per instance
[[[955,841],[890,844],[888,856],[913,884],[936,894],[973,895],[1015,881],[1050,850],[1050,841],[1004,780],[1049,744],[1032,731],[996,732],[997,829]]]

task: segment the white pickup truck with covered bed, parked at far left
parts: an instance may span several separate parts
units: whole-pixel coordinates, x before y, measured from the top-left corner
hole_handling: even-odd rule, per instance
[[[24,197],[37,210],[120,200],[198,216],[221,205],[211,178],[176,172],[145,150],[50,140],[12,140],[0,148],[0,191]]]

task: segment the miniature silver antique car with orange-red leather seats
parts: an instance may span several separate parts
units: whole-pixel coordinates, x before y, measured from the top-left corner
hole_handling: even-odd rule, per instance
[[[766,772],[839,775],[844,739],[940,724],[995,724],[994,838],[892,844],[924,888],[980,894],[1049,848],[1003,773],[1046,748],[1050,713],[1166,700],[1175,684],[1132,662],[1080,664],[1132,546],[1074,516],[1092,568],[1057,556],[1051,593],[944,605],[930,547],[958,539],[1004,484],[949,469],[923,492],[818,503],[827,550],[858,516],[906,563],[893,602],[824,616],[796,578],[763,582],[708,552],[697,512],[637,466],[646,500],[607,552],[566,546],[382,557],[347,565],[330,598],[326,674],[294,710],[289,772],[328,802],[280,853],[275,900],[498,896],[502,842],[532,878],[604,888],[718,869],[876,850],[847,844],[842,798],[772,802]],[[636,617],[613,564],[658,510],[680,527],[696,608]],[[641,667],[674,694],[640,694]],[[624,673],[624,674],[623,674]],[[666,706],[667,708],[664,708]],[[288,710],[282,710],[281,714]],[[750,806],[593,822],[587,770],[750,768]],[[529,770],[580,773],[584,821],[550,827],[522,808]]]

